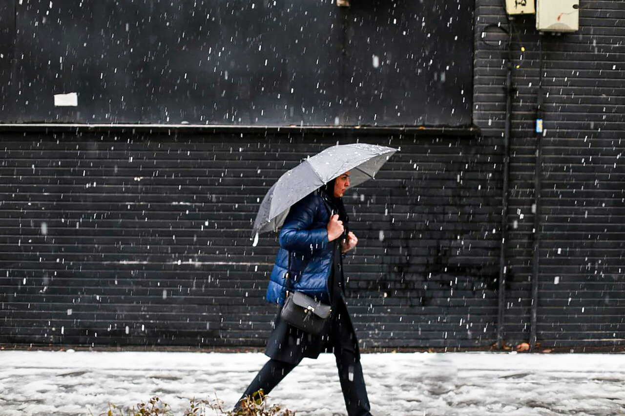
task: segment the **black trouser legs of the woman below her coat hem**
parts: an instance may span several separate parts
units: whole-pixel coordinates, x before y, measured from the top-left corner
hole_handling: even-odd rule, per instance
[[[341,348],[334,349],[334,357],[336,357],[336,367],[339,370],[339,380],[341,380],[341,390],[347,407],[347,415],[371,416],[369,413],[371,407],[362,377],[360,360],[353,351]],[[264,394],[269,394],[296,366],[297,364],[270,359],[252,380],[241,399],[251,396],[261,389]],[[238,408],[239,404],[237,403],[234,409]]]

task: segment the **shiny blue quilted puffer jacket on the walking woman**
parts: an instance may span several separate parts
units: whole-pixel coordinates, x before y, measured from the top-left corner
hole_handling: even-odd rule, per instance
[[[329,303],[327,278],[334,242],[327,240],[330,220],[326,204],[312,192],[291,207],[280,230],[280,249],[267,286],[267,302],[282,305],[286,295],[284,275],[291,255],[291,289]]]

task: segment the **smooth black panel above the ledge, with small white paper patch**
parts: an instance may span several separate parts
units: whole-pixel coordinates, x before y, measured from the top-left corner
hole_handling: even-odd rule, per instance
[[[461,0],[9,2],[0,121],[469,126],[472,11]],[[69,92],[78,106],[55,107]]]

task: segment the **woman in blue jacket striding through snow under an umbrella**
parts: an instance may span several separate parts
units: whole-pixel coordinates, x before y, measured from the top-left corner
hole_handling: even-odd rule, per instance
[[[267,287],[267,301],[282,305],[288,273],[289,289],[330,304],[331,315],[321,332],[312,335],[287,324],[278,314],[267,340],[269,361],[242,398],[258,390],[269,394],[304,357],[316,359],[321,352],[333,352],[347,414],[371,416],[356,332],[345,304],[342,254],[358,243],[347,227],[349,219],[342,202],[349,175],[345,172],[332,179],[291,207],[282,225],[280,249]]]

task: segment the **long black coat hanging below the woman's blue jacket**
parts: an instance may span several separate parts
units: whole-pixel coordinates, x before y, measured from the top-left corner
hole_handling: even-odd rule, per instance
[[[316,359],[321,352],[332,352],[334,349],[348,349],[360,357],[356,332],[345,304],[345,281],[337,242],[338,239],[335,240],[332,272],[328,277],[332,314],[327,319],[326,325],[319,334],[310,335],[281,320],[278,309],[273,322],[274,329],[267,340],[265,354],[268,357],[289,364],[298,364],[303,358]]]

